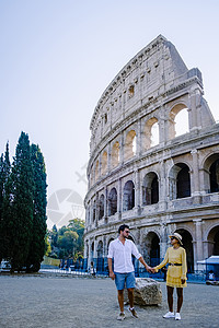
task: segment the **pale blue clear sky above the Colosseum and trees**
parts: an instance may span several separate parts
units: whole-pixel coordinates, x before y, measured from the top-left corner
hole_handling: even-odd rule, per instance
[[[159,34],[203,73],[219,120],[219,2],[0,0],[0,152],[21,131],[44,153],[48,196],[85,195],[90,120],[108,83]]]

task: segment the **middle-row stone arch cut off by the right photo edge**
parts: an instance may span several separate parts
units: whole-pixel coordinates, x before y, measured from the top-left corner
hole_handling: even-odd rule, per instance
[[[205,160],[204,188],[206,192],[219,191],[219,153],[214,153]]]

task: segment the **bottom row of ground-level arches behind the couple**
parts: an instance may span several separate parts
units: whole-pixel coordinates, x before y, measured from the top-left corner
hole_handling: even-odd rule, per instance
[[[175,230],[175,232],[180,233],[183,237],[183,247],[186,250],[186,258],[187,258],[187,270],[188,273],[191,273],[194,271],[194,255],[195,255],[194,238],[189,233],[189,231],[187,231],[186,229],[178,229]],[[134,243],[136,243],[132,236],[130,236],[130,238],[132,239]],[[93,260],[94,257],[96,256],[97,258],[96,265],[99,267],[103,266],[104,263],[103,258],[107,256],[108,246],[113,239],[114,239],[113,237],[108,239],[106,249],[104,249],[103,241],[99,241],[96,245],[96,254],[94,254],[94,242],[92,242],[90,248],[91,254],[89,254],[89,248],[87,248],[87,257],[88,258],[90,257],[90,259]],[[209,231],[206,243],[208,243],[208,257],[211,255],[219,255],[219,225],[216,225]],[[149,232],[142,239],[139,250],[142,254],[147,263],[149,263],[151,267],[157,266],[162,259],[160,245],[161,245],[161,237],[155,232]]]

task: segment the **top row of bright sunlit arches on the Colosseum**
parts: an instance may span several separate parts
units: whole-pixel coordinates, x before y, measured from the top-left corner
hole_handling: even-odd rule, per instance
[[[183,104],[174,106],[170,112],[169,117],[169,139],[173,139],[188,131],[187,108]],[[126,132],[124,142],[122,142],[120,140],[115,140],[114,142],[112,142],[111,155],[108,155],[108,151],[104,150],[100,155],[100,159],[96,159],[94,165],[91,168],[91,185],[95,183],[100,178],[100,176],[104,176],[107,173],[108,165],[111,166],[111,168],[115,168],[122,161],[127,161],[134,157],[137,153],[137,144],[139,144],[139,138],[140,136],[137,136],[136,129],[131,129]],[[159,119],[157,117],[152,117],[145,122],[141,139],[143,151],[159,144],[160,129]]]

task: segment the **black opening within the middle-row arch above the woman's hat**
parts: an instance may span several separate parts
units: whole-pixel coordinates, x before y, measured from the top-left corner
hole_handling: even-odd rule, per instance
[[[176,179],[176,198],[191,197],[191,175],[186,164],[178,164],[181,171]]]

